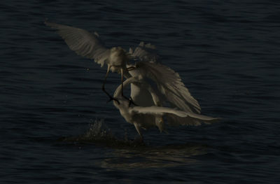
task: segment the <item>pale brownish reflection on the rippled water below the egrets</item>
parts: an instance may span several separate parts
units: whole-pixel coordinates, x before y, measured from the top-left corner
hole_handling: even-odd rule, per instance
[[[106,169],[146,169],[176,167],[196,162],[194,155],[206,154],[206,147],[194,144],[168,145],[161,147],[116,149],[100,164]]]

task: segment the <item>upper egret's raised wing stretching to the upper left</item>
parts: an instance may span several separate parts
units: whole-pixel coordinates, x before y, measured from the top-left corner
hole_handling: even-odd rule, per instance
[[[110,50],[102,44],[97,33],[91,34],[84,29],[48,21],[45,21],[45,24],[57,29],[57,33],[62,36],[69,48],[78,55],[94,59],[94,62],[101,64],[101,66],[106,64]]]

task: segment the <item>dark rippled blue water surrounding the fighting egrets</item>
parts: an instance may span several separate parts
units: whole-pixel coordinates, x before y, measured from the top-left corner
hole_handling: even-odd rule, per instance
[[[1,1],[0,10],[0,183],[280,182],[279,1]],[[132,141],[134,127],[106,104],[106,69],[69,50],[45,18],[107,45],[157,45],[202,113],[223,121]],[[110,75],[109,92],[119,78]]]

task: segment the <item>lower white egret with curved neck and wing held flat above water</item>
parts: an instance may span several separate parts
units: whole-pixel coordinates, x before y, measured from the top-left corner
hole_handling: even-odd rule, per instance
[[[144,80],[138,77],[128,78],[124,81],[123,87],[134,83],[138,84],[141,87],[145,87],[146,90],[151,94],[155,104],[158,103],[158,96],[153,91],[151,85],[146,83]],[[125,118],[127,122],[130,122],[137,129],[138,134],[143,139],[141,134],[141,128],[148,129],[149,127],[157,126],[160,129],[160,132],[164,130],[164,122],[159,116],[165,115],[167,117],[168,125],[200,125],[201,122],[210,123],[218,118],[212,118],[207,115],[201,115],[192,112],[179,111],[173,108],[167,108],[162,106],[130,106],[130,101],[122,97],[121,94],[122,85],[119,85],[116,89],[113,97],[118,99],[119,103],[113,101],[113,104],[116,108],[119,109],[120,114]]]

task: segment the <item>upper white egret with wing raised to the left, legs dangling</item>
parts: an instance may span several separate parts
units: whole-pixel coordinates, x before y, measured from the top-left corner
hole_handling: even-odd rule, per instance
[[[108,77],[109,71],[118,72],[121,74],[121,81],[123,84],[123,76],[127,78],[130,74],[127,72],[126,64],[129,60],[129,54],[120,47],[106,48],[102,41],[99,39],[97,32],[94,34],[84,29],[69,27],[62,24],[56,24],[53,22],[45,21],[45,24],[57,29],[57,33],[62,36],[69,48],[75,51],[78,55],[94,59],[94,62],[101,64],[107,64],[107,72],[102,85],[102,90],[113,99],[111,95],[105,90],[105,83]],[[123,90],[122,90],[123,95]]]

